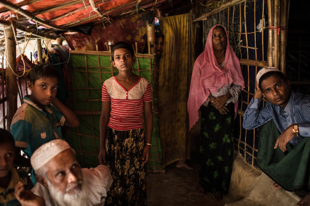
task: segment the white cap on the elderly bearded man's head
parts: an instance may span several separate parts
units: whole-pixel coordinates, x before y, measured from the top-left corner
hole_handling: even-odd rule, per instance
[[[72,149],[68,142],[64,140],[52,140],[40,146],[30,158],[31,166],[34,170],[44,166],[47,162],[66,149]],[[74,150],[72,149],[74,152]],[[75,153],[75,152],[74,152]]]

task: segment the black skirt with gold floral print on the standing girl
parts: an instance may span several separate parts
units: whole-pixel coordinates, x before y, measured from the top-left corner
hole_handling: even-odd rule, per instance
[[[107,128],[106,158],[113,183],[104,205],[146,205],[145,178],[147,166],[142,164],[144,146],[145,133],[143,128],[126,131]]]

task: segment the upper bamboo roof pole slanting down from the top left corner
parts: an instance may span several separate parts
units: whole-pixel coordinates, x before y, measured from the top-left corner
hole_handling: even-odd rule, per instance
[[[45,20],[42,20],[41,18],[33,15],[33,13],[31,13],[30,11],[26,11],[24,9],[21,9],[20,6],[16,6],[14,4],[12,4],[11,2],[7,2],[5,0],[1,0],[0,1],[0,5],[3,5],[5,7],[7,7],[8,9],[11,9],[17,13],[19,13],[20,15],[23,15],[31,20],[34,20],[42,25],[45,25],[47,27],[51,27],[53,29],[57,29],[57,30],[62,30],[62,31],[71,31],[70,29],[66,29],[66,28],[61,28],[61,27],[56,27],[54,25],[51,25],[49,23],[47,23]]]

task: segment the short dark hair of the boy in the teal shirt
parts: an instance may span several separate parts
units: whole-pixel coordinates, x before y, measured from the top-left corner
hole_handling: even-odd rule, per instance
[[[34,82],[39,78],[57,78],[60,80],[59,71],[52,64],[38,64],[35,65],[30,71],[30,82]]]

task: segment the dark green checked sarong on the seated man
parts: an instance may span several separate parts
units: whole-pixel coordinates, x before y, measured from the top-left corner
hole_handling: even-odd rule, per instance
[[[273,120],[263,125],[258,145],[256,163],[273,181],[287,191],[302,188],[310,189],[310,139],[304,137],[298,145],[286,144],[286,152],[279,147],[273,149],[280,135]]]

